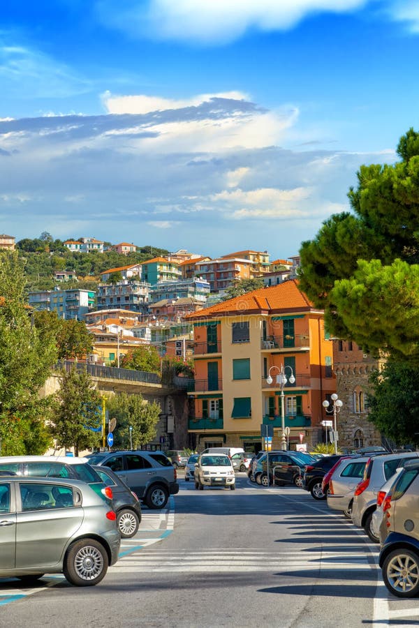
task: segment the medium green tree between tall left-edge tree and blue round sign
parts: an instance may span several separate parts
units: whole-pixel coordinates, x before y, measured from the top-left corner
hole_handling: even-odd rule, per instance
[[[95,389],[91,377],[83,368],[73,366],[62,371],[60,389],[54,397],[54,419],[51,432],[57,447],[74,447],[79,451],[97,447],[101,440],[102,397]]]

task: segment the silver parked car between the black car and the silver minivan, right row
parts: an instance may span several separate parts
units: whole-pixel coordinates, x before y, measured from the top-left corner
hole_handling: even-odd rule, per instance
[[[328,507],[351,517],[353,491],[364,475],[369,456],[346,458],[337,466],[329,481]]]

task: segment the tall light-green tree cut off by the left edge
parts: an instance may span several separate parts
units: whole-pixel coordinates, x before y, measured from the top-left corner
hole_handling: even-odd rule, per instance
[[[19,253],[0,255],[0,439],[1,453],[43,454],[48,400],[39,390],[57,359],[54,336],[38,330],[24,303]],[[37,440],[38,439],[38,440]]]

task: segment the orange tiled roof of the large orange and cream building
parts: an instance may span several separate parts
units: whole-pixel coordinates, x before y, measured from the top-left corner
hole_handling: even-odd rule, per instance
[[[279,311],[308,310],[314,308],[304,292],[301,292],[296,279],[247,292],[240,297],[221,301],[210,308],[187,315],[187,320],[198,320],[219,315],[253,314],[265,311],[273,314]]]

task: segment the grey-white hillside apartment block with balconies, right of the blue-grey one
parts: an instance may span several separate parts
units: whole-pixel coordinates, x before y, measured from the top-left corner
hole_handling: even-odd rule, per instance
[[[100,283],[97,292],[97,309],[123,308],[140,314],[147,314],[149,283],[135,278],[117,283]]]

